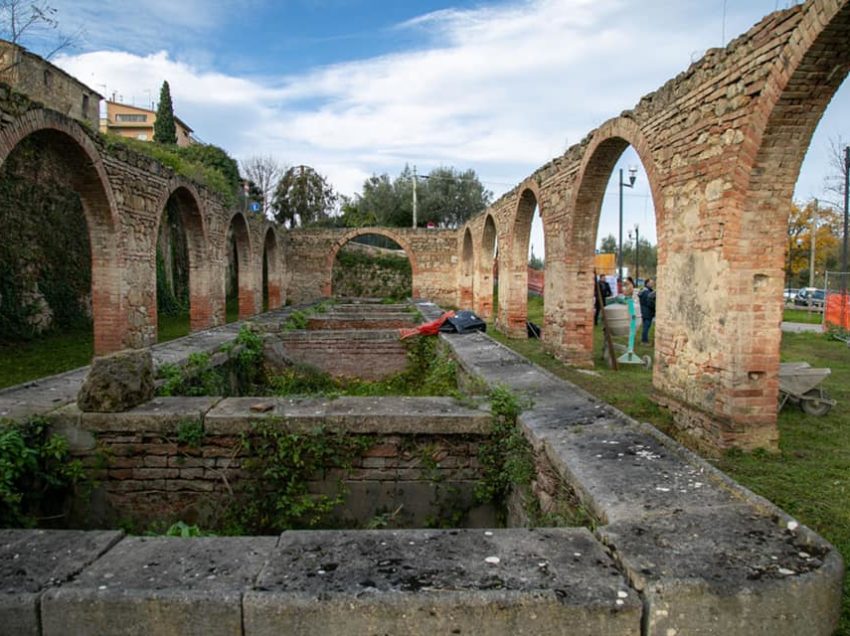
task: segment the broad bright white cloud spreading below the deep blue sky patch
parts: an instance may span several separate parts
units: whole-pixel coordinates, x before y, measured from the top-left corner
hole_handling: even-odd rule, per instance
[[[123,3],[106,3],[98,15],[104,3],[79,2],[92,29],[111,28],[98,25],[105,19],[115,25],[114,39],[127,38],[119,48],[164,40],[155,33],[161,20],[130,20]],[[171,20],[166,34],[182,30],[187,49],[203,50],[197,34],[240,7],[209,4],[157,0],[153,10]],[[727,38],[737,34],[731,23],[746,29],[773,5],[758,0],[747,11],[730,11]],[[342,193],[359,190],[372,172],[395,175],[410,163],[421,172],[472,167],[499,194],[720,44],[715,13],[696,0],[647,2],[640,10],[626,0],[443,10],[396,27],[427,35],[415,50],[271,80],[226,75],[165,48],[101,50],[57,63],[96,89],[106,85],[140,104],[156,99],[167,79],[177,114],[204,141],[237,158],[272,154],[282,163],[312,165]],[[201,21],[192,22],[198,15]],[[214,48],[214,39],[207,42]],[[645,217],[642,201],[640,207]]]

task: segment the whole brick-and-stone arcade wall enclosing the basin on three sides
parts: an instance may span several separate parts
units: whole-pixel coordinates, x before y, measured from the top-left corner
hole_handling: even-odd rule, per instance
[[[784,226],[805,151],[850,68],[850,0],[809,0],[712,49],[592,131],[458,230],[282,230],[38,104],[0,94],[0,162],[30,136],[63,149],[92,254],[95,347],[156,339],[158,224],[171,200],[186,231],[191,326],[225,320],[227,267],[240,317],[331,291],[334,258],[361,234],[407,254],[414,296],[493,313],[523,330],[528,233],[545,234],[545,345],[591,363],[594,238],[605,184],[631,145],[646,168],[659,241],[655,397],[718,447],[775,446]],[[498,250],[496,249],[498,246]],[[265,288],[265,289],[264,289]],[[265,300],[265,303],[264,303]]]

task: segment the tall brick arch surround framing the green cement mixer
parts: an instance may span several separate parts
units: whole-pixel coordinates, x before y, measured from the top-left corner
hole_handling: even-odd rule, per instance
[[[553,304],[563,304],[567,308],[568,328],[560,346],[568,359],[578,364],[592,362],[593,264],[602,199],[617,160],[630,145],[637,152],[649,180],[655,207],[659,270],[663,267],[665,218],[660,170],[640,127],[625,117],[611,119],[593,132],[582,158],[570,205],[572,225],[564,246],[565,277],[562,286],[554,290],[556,298],[552,299]],[[659,276],[663,280],[661,271]],[[547,285],[547,291],[550,289]],[[587,293],[578,294],[576,290],[587,290]]]

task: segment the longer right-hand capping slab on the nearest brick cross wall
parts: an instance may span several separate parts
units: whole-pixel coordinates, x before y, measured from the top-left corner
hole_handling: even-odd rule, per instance
[[[259,409],[268,410],[260,411]],[[280,420],[293,431],[335,426],[352,433],[488,434],[490,415],[443,397],[227,398],[204,418],[211,435],[237,435]]]

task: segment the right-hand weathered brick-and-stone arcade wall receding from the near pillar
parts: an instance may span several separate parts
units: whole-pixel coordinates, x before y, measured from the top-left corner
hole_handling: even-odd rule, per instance
[[[631,145],[655,202],[657,396],[683,429],[715,446],[774,446],[789,203],[814,129],[849,66],[846,0],[809,0],[768,15],[470,221],[459,296],[489,315],[498,240],[496,320],[522,333],[528,236],[539,205],[543,337],[559,357],[590,364],[600,207]]]

